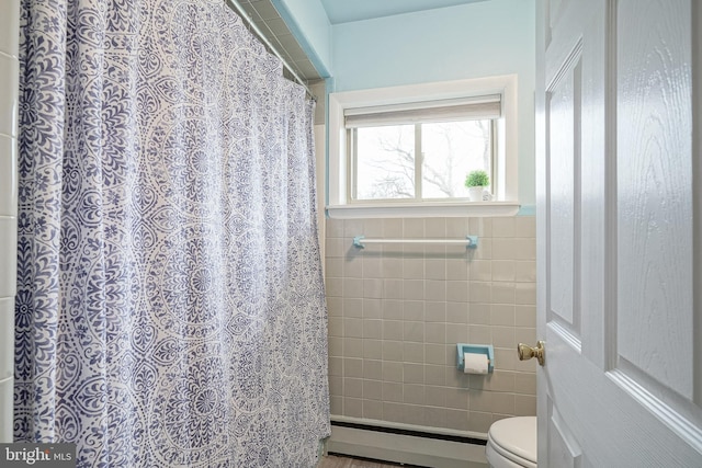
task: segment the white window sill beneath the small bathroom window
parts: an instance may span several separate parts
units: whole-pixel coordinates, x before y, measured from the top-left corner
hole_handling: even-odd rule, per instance
[[[474,218],[486,216],[514,216],[518,202],[465,202],[465,203],[416,203],[396,205],[336,205],[327,206],[327,216],[332,219],[360,218]]]

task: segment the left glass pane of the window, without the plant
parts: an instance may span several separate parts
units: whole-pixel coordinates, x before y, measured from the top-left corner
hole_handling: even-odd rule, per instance
[[[356,198],[415,197],[415,126],[356,128]]]

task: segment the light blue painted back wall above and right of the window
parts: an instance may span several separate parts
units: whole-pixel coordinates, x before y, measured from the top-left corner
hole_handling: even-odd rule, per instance
[[[535,4],[489,0],[332,26],[335,91],[519,76],[519,196],[533,205]]]

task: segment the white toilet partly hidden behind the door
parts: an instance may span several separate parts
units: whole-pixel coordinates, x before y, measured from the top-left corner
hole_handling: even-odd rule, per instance
[[[536,468],[536,416],[492,423],[485,455],[491,468]]]

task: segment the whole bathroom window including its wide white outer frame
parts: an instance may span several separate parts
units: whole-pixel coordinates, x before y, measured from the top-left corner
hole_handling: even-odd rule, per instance
[[[514,89],[498,77],[330,94],[329,216],[516,212]],[[494,203],[468,203],[476,169]]]

